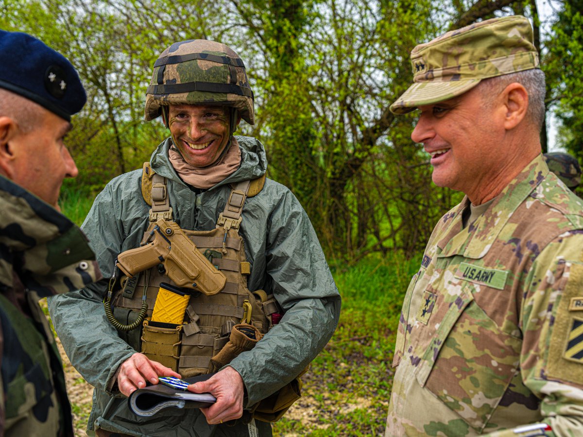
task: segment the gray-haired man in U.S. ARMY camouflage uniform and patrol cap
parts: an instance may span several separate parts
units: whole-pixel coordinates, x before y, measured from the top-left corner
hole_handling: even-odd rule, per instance
[[[541,154],[531,24],[472,24],[411,61],[391,110],[420,110],[433,182],[466,196],[406,292],[386,435],[583,435],[583,204]]]

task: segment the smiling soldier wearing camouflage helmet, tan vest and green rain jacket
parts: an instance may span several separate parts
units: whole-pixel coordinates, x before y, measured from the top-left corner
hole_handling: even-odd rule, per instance
[[[49,304],[73,365],[95,386],[90,432],[269,436],[268,422],[290,404],[274,407],[271,395],[279,390],[290,400],[282,393],[298,390],[294,378],[338,323],[340,297],[310,220],[289,189],[265,178],[261,143],[233,136],[241,118],[254,123],[253,104],[243,61],[224,44],[181,41],[154,64],[145,117],[161,116],[170,138],[142,170],[113,179],[83,224],[104,274],[120,278],[119,286],[103,283]],[[166,225],[180,228],[226,278],[216,294],[182,287],[185,309],[170,331],[152,312],[168,296],[163,284],[176,286],[167,266],[128,276],[114,268],[116,257],[149,247]],[[125,396],[161,375],[209,372],[216,373],[188,387],[212,393],[209,408],[145,418],[128,407]]]

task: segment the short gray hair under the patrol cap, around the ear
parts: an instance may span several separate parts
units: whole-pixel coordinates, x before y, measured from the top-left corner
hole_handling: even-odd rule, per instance
[[[518,82],[528,93],[528,111],[526,119],[538,129],[545,122],[545,73],[538,68],[510,73],[508,75],[490,77],[480,82],[480,91],[484,101],[490,102],[491,96],[496,96],[511,83]]]

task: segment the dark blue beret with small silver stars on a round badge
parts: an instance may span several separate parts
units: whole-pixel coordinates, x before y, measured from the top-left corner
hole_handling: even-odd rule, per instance
[[[0,30],[0,88],[26,97],[66,121],[87,101],[71,62],[21,32]]]

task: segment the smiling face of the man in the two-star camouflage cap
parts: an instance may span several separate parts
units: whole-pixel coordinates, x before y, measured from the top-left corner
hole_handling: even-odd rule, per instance
[[[480,199],[479,193],[504,167],[504,125],[500,106],[484,101],[480,86],[461,96],[419,107],[421,115],[411,138],[431,155],[433,182]]]

